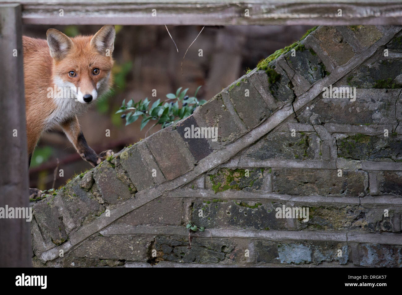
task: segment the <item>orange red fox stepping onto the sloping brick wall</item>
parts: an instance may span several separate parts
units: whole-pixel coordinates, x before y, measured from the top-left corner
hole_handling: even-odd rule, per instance
[[[88,146],[77,115],[111,88],[115,27],[93,36],[68,37],[50,28],[46,39],[23,36],[28,166],[41,134],[60,126],[82,159],[93,167],[113,155]],[[32,197],[41,190],[30,188]]]

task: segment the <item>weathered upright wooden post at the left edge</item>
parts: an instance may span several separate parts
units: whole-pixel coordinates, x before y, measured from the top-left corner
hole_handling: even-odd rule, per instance
[[[0,210],[29,208],[21,6],[0,4],[0,19]],[[31,265],[30,222],[1,218],[0,267]]]

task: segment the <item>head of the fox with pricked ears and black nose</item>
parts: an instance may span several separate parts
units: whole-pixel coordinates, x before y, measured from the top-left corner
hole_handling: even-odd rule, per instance
[[[113,67],[115,27],[103,26],[94,36],[69,38],[56,29],[46,32],[53,58],[53,82],[69,88],[80,103],[88,104],[109,90]]]

